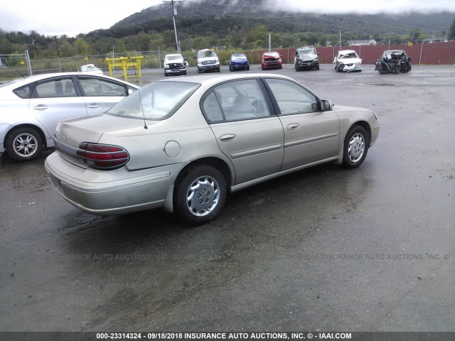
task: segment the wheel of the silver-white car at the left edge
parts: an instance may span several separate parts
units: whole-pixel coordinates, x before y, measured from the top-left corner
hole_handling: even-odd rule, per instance
[[[6,152],[16,161],[38,158],[43,151],[43,139],[35,129],[17,128],[6,138]]]

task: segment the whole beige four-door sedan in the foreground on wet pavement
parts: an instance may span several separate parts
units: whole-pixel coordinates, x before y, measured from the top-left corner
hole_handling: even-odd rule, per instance
[[[333,106],[289,77],[178,77],[60,122],[45,168],[86,212],[162,207],[204,224],[228,192],[325,162],[360,166],[378,134],[375,112]]]

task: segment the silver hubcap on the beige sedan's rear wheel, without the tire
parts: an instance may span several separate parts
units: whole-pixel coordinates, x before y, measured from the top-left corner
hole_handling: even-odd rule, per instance
[[[217,207],[219,200],[220,185],[208,175],[194,180],[186,192],[186,207],[197,217],[210,214]]]

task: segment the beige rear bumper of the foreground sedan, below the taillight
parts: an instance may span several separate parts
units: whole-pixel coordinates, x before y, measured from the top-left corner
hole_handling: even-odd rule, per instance
[[[162,207],[183,164],[141,171],[97,171],[73,165],[52,153],[45,169],[58,194],[94,215],[119,215]]]

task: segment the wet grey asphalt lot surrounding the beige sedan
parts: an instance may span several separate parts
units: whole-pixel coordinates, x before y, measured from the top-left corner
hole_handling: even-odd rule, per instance
[[[2,155],[0,330],[455,331],[455,67],[269,72],[375,110],[360,168],[256,185],[186,227],[161,210],[87,215],[48,180],[52,151]]]

